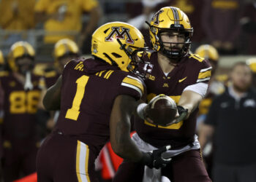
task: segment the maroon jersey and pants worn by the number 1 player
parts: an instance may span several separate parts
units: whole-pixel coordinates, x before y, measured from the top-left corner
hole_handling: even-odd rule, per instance
[[[56,181],[97,180],[94,160],[110,138],[113,101],[118,95],[138,100],[143,90],[135,74],[117,66],[93,59],[70,61],[62,74],[59,119],[37,157],[38,175]],[[48,170],[42,170],[46,165]]]

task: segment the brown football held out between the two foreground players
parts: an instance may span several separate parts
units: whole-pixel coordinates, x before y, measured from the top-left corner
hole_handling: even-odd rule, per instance
[[[176,102],[167,95],[157,95],[148,103],[145,114],[153,124],[165,127],[176,117]]]

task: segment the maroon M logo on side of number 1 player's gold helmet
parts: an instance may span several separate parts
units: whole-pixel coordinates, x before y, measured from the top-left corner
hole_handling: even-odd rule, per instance
[[[116,36],[114,38],[114,36]],[[110,34],[105,38],[105,41],[113,41],[113,39],[125,39],[125,36],[127,36],[127,43],[134,44],[135,41],[132,39],[132,36],[129,34],[129,28],[121,27],[112,27],[112,31]]]

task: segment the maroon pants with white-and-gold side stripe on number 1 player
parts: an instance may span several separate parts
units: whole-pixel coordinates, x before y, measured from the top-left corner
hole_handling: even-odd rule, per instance
[[[37,154],[38,182],[97,181],[97,154],[85,143],[69,136],[50,134]]]

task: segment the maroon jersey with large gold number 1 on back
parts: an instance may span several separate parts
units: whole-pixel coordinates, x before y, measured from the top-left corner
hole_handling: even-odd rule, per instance
[[[74,136],[99,150],[110,137],[115,98],[143,95],[143,81],[102,60],[71,60],[62,74],[61,110],[55,131]]]

